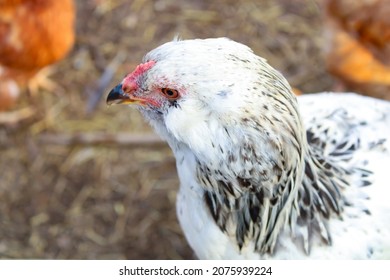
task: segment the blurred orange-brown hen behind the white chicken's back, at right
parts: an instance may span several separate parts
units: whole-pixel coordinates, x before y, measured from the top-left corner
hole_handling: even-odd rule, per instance
[[[324,3],[328,70],[342,90],[390,100],[390,1]]]

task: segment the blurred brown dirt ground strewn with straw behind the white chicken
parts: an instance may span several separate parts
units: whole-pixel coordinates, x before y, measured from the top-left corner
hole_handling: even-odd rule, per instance
[[[108,91],[175,35],[230,37],[294,87],[330,90],[321,7],[313,0],[76,2],[76,44],[51,75],[59,88],[25,94],[15,110],[27,117],[0,126],[0,258],[194,258],[176,220],[170,150],[138,112],[107,107]],[[99,86],[102,79],[109,82]],[[134,146],[134,135],[151,139]]]

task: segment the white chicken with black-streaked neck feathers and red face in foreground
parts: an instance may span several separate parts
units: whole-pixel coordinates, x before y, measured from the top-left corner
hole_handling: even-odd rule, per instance
[[[389,102],[297,100],[263,58],[217,38],[152,50],[107,103],[136,105],[171,147],[200,259],[390,258]]]

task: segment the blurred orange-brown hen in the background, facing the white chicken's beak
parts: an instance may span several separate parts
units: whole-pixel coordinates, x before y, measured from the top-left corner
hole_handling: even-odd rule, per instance
[[[26,87],[50,86],[43,68],[72,48],[74,20],[72,0],[0,0],[0,111]]]

